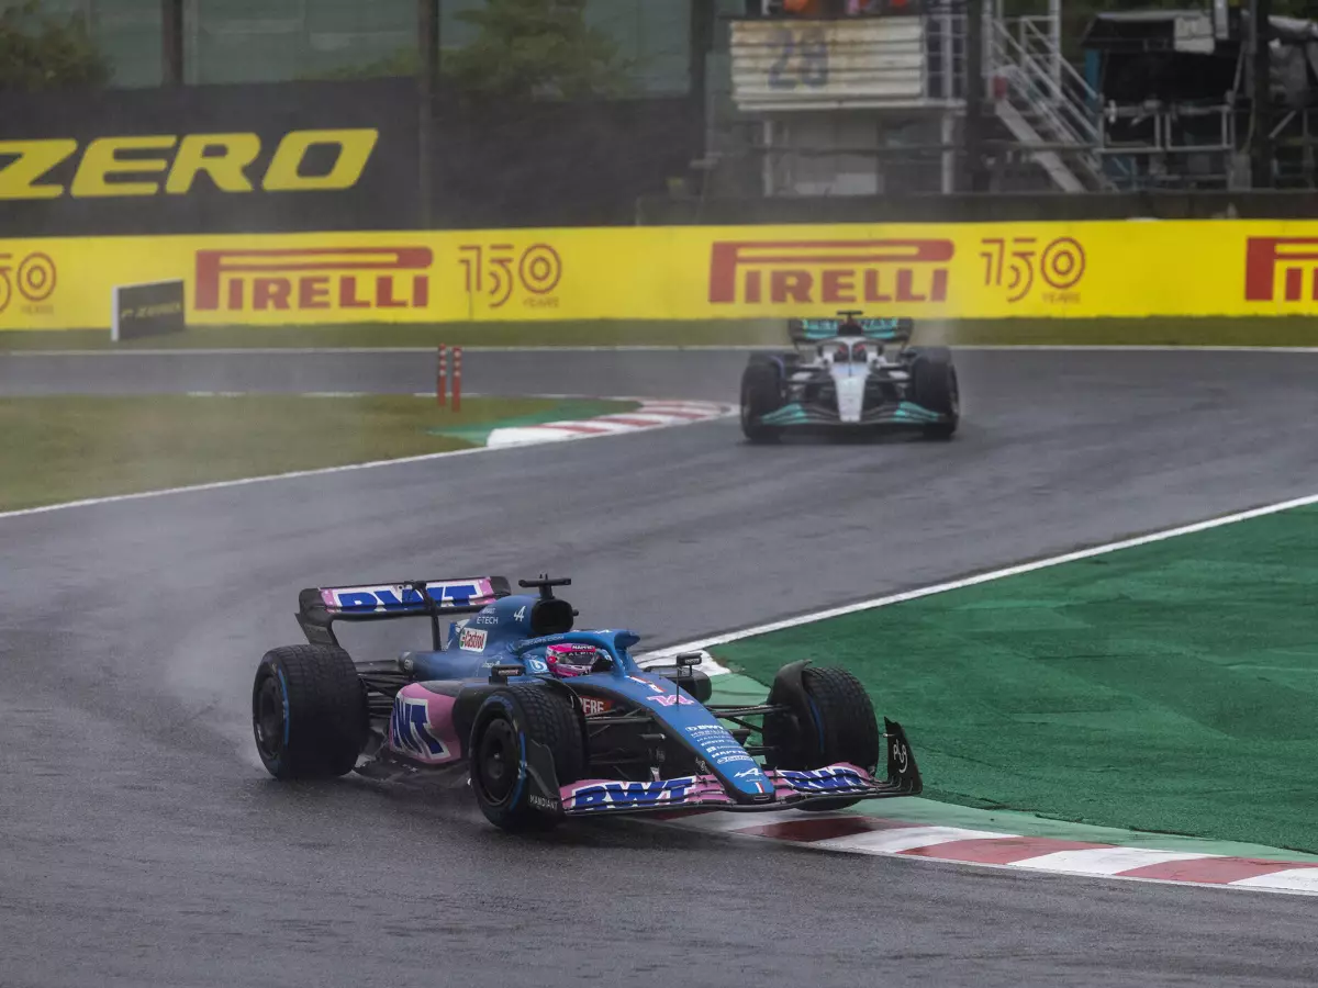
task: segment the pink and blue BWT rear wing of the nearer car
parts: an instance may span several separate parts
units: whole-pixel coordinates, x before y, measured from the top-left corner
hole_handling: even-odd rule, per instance
[[[506,577],[409,580],[366,586],[312,586],[298,594],[298,624],[314,645],[337,645],[336,620],[430,618],[435,651],[442,647],[439,622],[451,614],[474,614],[511,593]]]

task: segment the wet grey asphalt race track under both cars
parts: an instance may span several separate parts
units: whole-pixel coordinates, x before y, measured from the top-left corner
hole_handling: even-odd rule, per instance
[[[154,360],[0,356],[0,394],[432,371]],[[733,400],[743,360],[468,368],[473,391]],[[662,645],[1309,494],[1314,360],[963,353],[949,445],[760,449],[720,422],[0,519],[0,985],[1313,984],[1310,898],[634,822],[509,838],[464,793],[274,784],[246,703],[314,582],[548,568],[583,623]]]

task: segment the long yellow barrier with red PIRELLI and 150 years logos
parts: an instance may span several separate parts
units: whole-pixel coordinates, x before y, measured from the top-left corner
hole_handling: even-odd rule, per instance
[[[1318,312],[1318,223],[1114,221],[0,241],[0,329],[111,324],[183,279],[192,325]]]

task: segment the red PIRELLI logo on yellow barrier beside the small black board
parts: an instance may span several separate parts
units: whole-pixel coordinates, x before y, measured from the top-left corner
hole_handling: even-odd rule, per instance
[[[196,308],[426,308],[434,260],[426,246],[198,250]]]

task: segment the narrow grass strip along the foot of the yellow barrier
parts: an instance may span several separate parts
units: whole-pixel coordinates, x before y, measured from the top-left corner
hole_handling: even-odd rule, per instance
[[[917,340],[952,345],[1318,346],[1318,317],[998,319],[924,323]],[[192,327],[178,336],[115,344],[108,331],[0,332],[0,352],[320,346],[780,346],[780,319],[394,323],[324,327]]]

